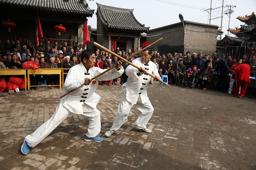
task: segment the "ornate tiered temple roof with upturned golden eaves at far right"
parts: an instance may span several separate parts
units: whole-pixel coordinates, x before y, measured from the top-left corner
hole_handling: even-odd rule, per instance
[[[246,25],[241,25],[240,28],[236,27],[235,29],[228,29],[232,34],[235,34],[236,37],[245,38],[250,37],[252,34],[253,28],[256,28],[256,14],[254,12],[251,15],[245,15],[244,17],[237,17],[236,19],[245,23]]]

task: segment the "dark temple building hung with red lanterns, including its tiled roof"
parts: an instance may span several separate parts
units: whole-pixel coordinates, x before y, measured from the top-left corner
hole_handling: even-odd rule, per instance
[[[68,2],[63,0],[0,0],[0,10],[1,22],[11,20],[16,24],[16,28],[11,29],[11,32],[0,26],[2,42],[5,43],[7,39],[21,40],[22,45],[29,41],[32,43],[36,41],[37,15],[44,35],[42,41],[45,44],[49,38],[49,32],[53,39],[69,40],[73,37],[83,40],[84,23],[87,17],[92,17],[94,14],[94,10],[89,8],[85,0],[83,3],[79,3],[78,0]],[[58,35],[54,27],[60,24],[66,28],[66,31]],[[62,45],[64,41],[70,43],[66,40],[57,40],[57,42],[59,45]]]

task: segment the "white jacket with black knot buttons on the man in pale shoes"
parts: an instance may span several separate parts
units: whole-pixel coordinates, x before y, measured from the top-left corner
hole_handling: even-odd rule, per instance
[[[146,64],[142,61],[141,58],[137,58],[133,60],[132,63],[134,65],[137,65],[138,67],[148,69],[147,72],[149,74],[160,77],[157,71],[157,66],[154,62],[149,61],[148,64]],[[129,65],[125,69],[125,73],[128,76],[128,79],[127,82],[122,85],[122,90],[124,91],[124,93],[126,92],[126,99],[128,100],[128,102],[136,104],[139,95],[141,97],[142,103],[147,102],[147,88],[149,82],[151,82],[152,85],[158,85],[160,82],[154,81],[154,78],[149,76],[148,74],[144,73],[140,75],[139,69],[135,68],[132,65]]]

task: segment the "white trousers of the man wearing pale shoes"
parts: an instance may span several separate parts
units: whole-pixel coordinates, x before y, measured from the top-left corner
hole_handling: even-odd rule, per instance
[[[122,124],[127,122],[128,114],[133,105],[134,105],[133,103],[127,101],[126,92],[124,91],[123,95],[122,95],[122,99],[118,105],[116,118],[115,118],[110,130],[116,131],[122,126]],[[137,100],[137,104],[135,104],[135,106],[136,106],[136,110],[138,112],[138,118],[134,122],[134,126],[137,129],[144,129],[147,127],[147,123],[154,112],[154,108],[151,105],[151,102],[149,100],[143,104],[140,96],[139,96],[139,98]]]

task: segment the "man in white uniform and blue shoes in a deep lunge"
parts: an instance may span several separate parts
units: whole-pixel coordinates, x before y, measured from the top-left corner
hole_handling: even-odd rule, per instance
[[[60,99],[56,111],[52,117],[38,127],[34,133],[26,136],[21,147],[21,152],[25,155],[29,153],[30,147],[35,147],[44,140],[70,113],[83,114],[89,117],[88,132],[85,135],[85,141],[101,142],[103,139],[97,136],[100,132],[100,112],[96,109],[100,96],[95,92],[98,87],[98,81],[108,81],[120,77],[124,72],[121,64],[102,76],[91,80],[105,70],[93,67],[95,64],[95,54],[91,50],[84,50],[81,53],[81,63],[70,68],[64,84],[63,94],[76,89],[72,93]],[[81,88],[79,88],[81,86]]]

